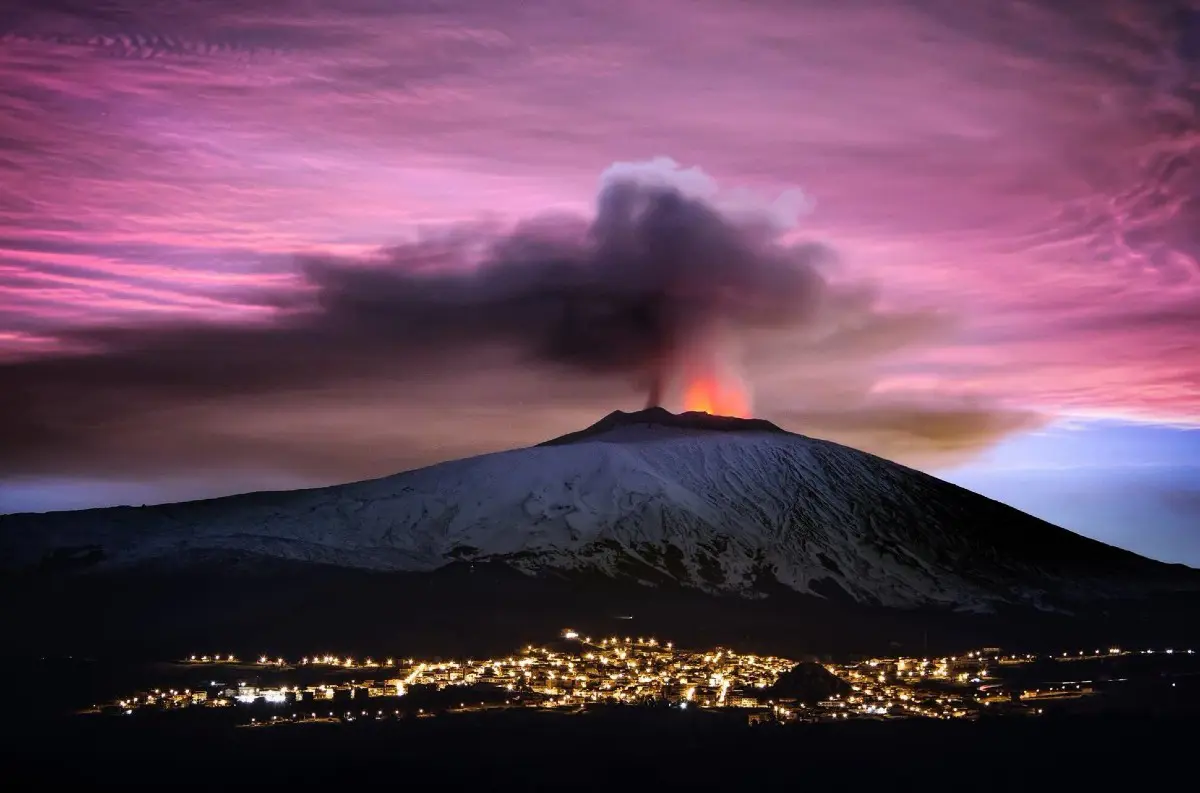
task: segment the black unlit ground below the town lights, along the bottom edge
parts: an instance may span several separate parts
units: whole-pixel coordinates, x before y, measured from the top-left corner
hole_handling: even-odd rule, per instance
[[[1194,779],[1195,721],[1111,715],[756,726],[617,710],[233,728],[8,722],[6,789],[1117,789]]]

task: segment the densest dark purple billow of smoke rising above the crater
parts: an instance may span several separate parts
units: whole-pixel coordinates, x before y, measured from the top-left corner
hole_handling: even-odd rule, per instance
[[[826,256],[674,187],[623,179],[605,186],[586,227],[547,218],[496,240],[398,246],[370,264],[308,259],[316,307],[293,332],[355,337],[401,358],[504,344],[532,362],[625,378],[659,404],[684,350],[712,328],[810,317]]]

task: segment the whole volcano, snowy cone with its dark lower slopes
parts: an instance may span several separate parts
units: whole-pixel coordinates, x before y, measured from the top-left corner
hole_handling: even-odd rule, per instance
[[[0,569],[11,596],[53,591],[55,619],[107,633],[144,619],[121,608],[146,600],[168,609],[156,630],[356,614],[403,632],[414,613],[494,623],[516,590],[512,609],[530,614],[580,599],[622,614],[670,600],[688,603],[684,621],[787,623],[802,605],[1080,618],[1200,588],[1194,570],[880,457],[764,420],[661,408],[349,485],[2,516]],[[97,599],[109,611],[89,612]],[[335,601],[344,611],[328,617]],[[11,630],[44,638],[43,621]]]

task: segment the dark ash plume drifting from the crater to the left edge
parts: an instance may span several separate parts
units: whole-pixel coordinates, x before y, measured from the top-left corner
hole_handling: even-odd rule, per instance
[[[269,325],[76,330],[60,335],[74,352],[0,364],[0,473],[119,458],[131,427],[182,432],[170,415],[184,408],[419,385],[490,355],[625,383],[658,402],[696,340],[810,322],[829,257],[780,242],[762,218],[734,221],[674,187],[613,179],[590,224],[541,218],[366,260],[306,258],[301,286],[275,295]]]

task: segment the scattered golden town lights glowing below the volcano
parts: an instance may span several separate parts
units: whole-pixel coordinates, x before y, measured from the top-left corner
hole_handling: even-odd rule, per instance
[[[209,698],[206,692],[191,690],[168,691],[155,690],[142,697],[121,699],[116,705],[124,713],[132,714],[142,707],[187,707],[202,704],[208,707],[229,707],[235,703],[250,704],[264,702],[270,705],[283,705],[299,701],[305,695],[312,698],[334,699],[336,690],[350,690],[350,696],[406,696],[414,685],[430,685],[443,690],[450,686],[467,686],[474,683],[498,685],[506,691],[517,691],[520,696],[504,702],[503,707],[580,707],[598,702],[641,702],[646,699],[668,699],[680,709],[689,707],[743,707],[757,713],[767,713],[776,720],[796,717],[847,719],[852,714],[872,717],[920,715],[952,719],[967,716],[977,705],[990,707],[1008,702],[1000,686],[991,683],[989,665],[1021,665],[1039,659],[1033,654],[1002,655],[996,648],[971,651],[964,656],[940,659],[872,659],[860,663],[827,665],[826,668],[851,686],[851,693],[845,697],[832,696],[815,707],[800,704],[788,705],[786,702],[761,703],[754,692],[769,686],[778,675],[793,666],[787,659],[775,656],[739,655],[727,649],[715,649],[707,653],[676,650],[673,643],[659,643],[654,637],[612,636],[593,641],[578,631],[566,629],[562,638],[578,644],[577,651],[551,650],[527,645],[520,656],[491,659],[484,661],[444,661],[427,662],[415,659],[388,657],[376,661],[372,657],[355,660],[352,656],[316,655],[305,656],[289,663],[283,657],[263,654],[258,656],[258,666],[274,669],[294,669],[299,667],[329,667],[332,669],[396,669],[391,677],[377,684],[374,680],[349,684],[318,685],[301,689],[287,685],[275,689],[257,689],[239,684],[236,690],[226,691],[223,696]],[[1194,654],[1194,650],[1159,650],[1168,655],[1176,653]],[[1094,649],[1055,653],[1049,657],[1055,661],[1075,661],[1093,657],[1112,657],[1135,654],[1154,654],[1153,649],[1123,650],[1109,647]],[[238,663],[233,654],[192,655],[193,663]],[[922,693],[914,687],[923,680],[944,680],[954,693]],[[1044,697],[1082,696],[1091,692],[1082,684],[1090,680],[1062,684],[1048,690],[1026,691],[1018,699]],[[217,686],[214,681],[212,686]],[[978,687],[972,687],[978,686]],[[1072,687],[1073,686],[1073,687]],[[532,695],[532,696],[530,696]],[[307,698],[307,697],[306,697]],[[463,702],[462,708],[467,704]],[[496,704],[494,707],[502,707]],[[376,708],[376,717],[385,717],[385,710]],[[1033,710],[1030,710],[1031,713]],[[310,711],[317,717],[317,711]],[[395,715],[400,710],[392,710]],[[425,714],[424,709],[418,711]],[[1040,709],[1037,710],[1040,713]],[[304,717],[304,714],[300,714]],[[334,713],[330,711],[330,717]],[[370,710],[361,710],[359,716],[366,717]],[[295,717],[295,716],[294,716]],[[358,717],[353,711],[346,711],[346,719]],[[278,716],[272,716],[271,722]],[[257,721],[256,721],[257,723]],[[270,723],[270,722],[266,722]]]

